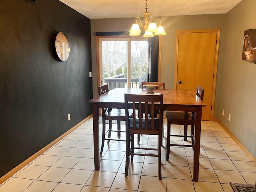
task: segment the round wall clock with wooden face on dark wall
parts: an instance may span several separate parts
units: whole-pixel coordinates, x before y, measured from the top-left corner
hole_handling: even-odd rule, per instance
[[[62,32],[57,32],[53,38],[53,50],[58,60],[66,61],[70,53],[70,46],[67,36]]]

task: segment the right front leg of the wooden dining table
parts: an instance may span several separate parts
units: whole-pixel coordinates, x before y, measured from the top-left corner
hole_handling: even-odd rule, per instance
[[[196,114],[195,114],[195,126],[194,126],[194,136],[195,136],[194,138],[194,170],[193,170],[194,181],[198,181],[201,120],[202,120],[202,107],[197,107]]]

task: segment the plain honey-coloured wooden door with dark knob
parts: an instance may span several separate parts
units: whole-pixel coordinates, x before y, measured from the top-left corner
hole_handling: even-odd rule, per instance
[[[176,81],[177,89],[204,88],[202,120],[213,120],[220,30],[177,31]]]

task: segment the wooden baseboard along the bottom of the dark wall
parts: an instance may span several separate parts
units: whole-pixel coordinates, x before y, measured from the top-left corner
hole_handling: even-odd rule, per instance
[[[45,146],[44,148],[42,148],[41,150],[39,150],[38,152],[36,152],[34,155],[32,155],[30,158],[26,159],[24,162],[22,162],[21,164],[19,164],[18,166],[16,166],[15,168],[13,168],[12,170],[10,170],[8,173],[6,173],[4,176],[2,176],[0,178],[0,184],[2,184],[3,182],[5,182],[6,180],[8,180],[8,178],[10,178],[11,176],[13,176],[15,173],[17,173],[19,170],[21,170],[22,168],[24,168],[24,166],[28,165],[30,162],[32,162],[33,160],[35,160],[36,158],[38,158],[40,155],[42,155],[44,152],[46,152],[48,149],[50,149],[52,146],[54,146],[56,143],[58,143],[60,140],[62,140],[64,137],[66,137],[68,134],[70,134],[71,132],[73,132],[74,130],[76,130],[79,126],[81,126],[82,124],[84,124],[87,120],[89,120],[90,118],[92,118],[92,114],[90,116],[88,116],[87,118],[85,118],[84,120],[82,120],[80,123],[78,123],[77,125],[75,125],[74,127],[72,127],[70,130],[68,130],[67,132],[65,132],[64,134],[62,134],[61,136],[59,136],[58,138],[56,138],[54,141],[52,141],[50,144],[48,144],[47,146]]]

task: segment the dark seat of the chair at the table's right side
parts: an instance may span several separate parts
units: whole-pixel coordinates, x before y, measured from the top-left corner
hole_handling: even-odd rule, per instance
[[[187,125],[194,124],[194,115],[191,112],[166,112],[166,120],[172,122],[171,124],[179,124],[179,122],[185,123]]]

